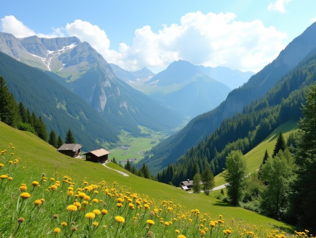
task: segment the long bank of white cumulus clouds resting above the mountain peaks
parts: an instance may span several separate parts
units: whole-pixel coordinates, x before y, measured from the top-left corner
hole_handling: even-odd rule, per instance
[[[235,19],[234,13],[187,13],[180,24],[163,25],[157,32],[150,26],[136,29],[132,44],[122,42],[118,51],[111,50],[104,30],[82,20],[68,23],[45,36],[36,34],[14,16],[3,18],[2,25],[4,32],[16,37],[34,34],[57,37],[65,32],[90,43],[109,63],[131,71],[143,67],[160,71],[173,61],[186,60],[195,65],[257,72],[284,49],[286,33],[272,26],[265,27],[260,20],[240,22]]]

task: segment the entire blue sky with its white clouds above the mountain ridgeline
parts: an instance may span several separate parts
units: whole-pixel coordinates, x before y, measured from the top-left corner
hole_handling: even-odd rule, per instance
[[[257,72],[316,21],[314,0],[12,0],[0,30],[77,36],[109,63],[157,73],[176,60]]]

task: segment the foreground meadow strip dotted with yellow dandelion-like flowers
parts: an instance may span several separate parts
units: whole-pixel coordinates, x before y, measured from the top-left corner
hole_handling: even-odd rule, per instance
[[[176,200],[155,201],[124,184],[67,174],[39,174],[21,166],[14,145],[1,151],[0,234],[2,237],[295,237],[238,219],[187,210]]]

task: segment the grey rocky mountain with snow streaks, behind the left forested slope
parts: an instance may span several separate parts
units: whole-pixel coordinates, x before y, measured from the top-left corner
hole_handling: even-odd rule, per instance
[[[140,134],[138,125],[172,130],[182,117],[137,91],[113,72],[90,44],[76,37],[15,38],[0,33],[0,51],[46,72],[84,99],[117,129]]]

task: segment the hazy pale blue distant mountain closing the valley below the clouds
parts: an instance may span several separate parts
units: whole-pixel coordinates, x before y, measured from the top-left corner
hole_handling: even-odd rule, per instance
[[[195,66],[187,61],[175,61],[155,75],[148,73],[148,69],[130,72],[116,65],[111,66],[115,74],[132,87],[189,118],[214,109],[231,91],[228,86],[207,74],[210,67]]]

